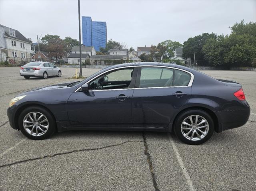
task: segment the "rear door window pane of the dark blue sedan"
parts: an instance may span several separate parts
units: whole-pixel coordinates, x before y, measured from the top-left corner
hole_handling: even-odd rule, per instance
[[[140,88],[171,87],[173,69],[163,67],[142,67],[140,73]]]

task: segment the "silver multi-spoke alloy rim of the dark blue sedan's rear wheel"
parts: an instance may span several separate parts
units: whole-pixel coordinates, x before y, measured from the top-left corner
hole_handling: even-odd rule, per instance
[[[200,115],[186,117],[180,127],[182,135],[191,141],[202,140],[209,131],[208,121]]]

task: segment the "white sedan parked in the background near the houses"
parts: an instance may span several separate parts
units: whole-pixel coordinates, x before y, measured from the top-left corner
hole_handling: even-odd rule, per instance
[[[29,62],[20,67],[20,75],[29,79],[30,77],[42,77],[46,79],[48,76],[61,77],[60,68],[49,62]]]

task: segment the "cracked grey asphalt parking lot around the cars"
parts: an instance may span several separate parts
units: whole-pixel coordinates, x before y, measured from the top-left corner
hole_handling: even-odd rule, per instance
[[[202,71],[241,83],[251,115],[243,127],[191,146],[157,132],[74,131],[30,140],[10,127],[9,101],[25,90],[74,81],[67,77],[76,69],[62,68],[62,77],[46,80],[24,79],[18,70],[0,68],[0,190],[256,190],[256,72]]]

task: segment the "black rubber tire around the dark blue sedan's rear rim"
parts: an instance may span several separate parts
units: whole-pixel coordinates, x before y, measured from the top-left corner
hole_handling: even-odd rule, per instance
[[[185,136],[182,134],[182,129],[181,129],[181,125],[182,125],[182,122],[189,116],[192,116],[192,115],[198,115],[198,116],[202,116],[207,122],[208,122],[208,133],[206,134],[206,136],[204,136],[204,138],[200,139],[200,140],[189,140],[187,138],[185,138]],[[193,121],[193,120],[192,120]],[[186,126],[188,127],[188,126]],[[196,127],[194,127],[196,128]],[[204,130],[204,129],[200,129],[200,130]],[[184,130],[186,132],[189,132],[190,130]],[[196,130],[192,130],[193,131],[196,131],[198,132],[198,134],[200,134],[201,136],[203,136],[199,131],[198,129]],[[204,110],[200,110],[200,109],[192,109],[192,110],[186,110],[184,112],[182,112],[175,124],[174,124],[174,132],[176,134],[176,136],[184,143],[186,144],[190,144],[190,145],[199,145],[199,144],[202,144],[204,142],[206,142],[207,140],[209,140],[214,132],[214,122],[212,120],[212,117],[207,113],[205,112]],[[190,137],[192,137],[192,133],[189,134]],[[195,136],[196,133],[195,133]],[[193,137],[192,137],[193,138]],[[198,138],[198,137],[196,137]]]

